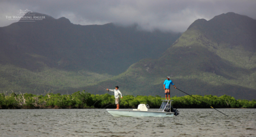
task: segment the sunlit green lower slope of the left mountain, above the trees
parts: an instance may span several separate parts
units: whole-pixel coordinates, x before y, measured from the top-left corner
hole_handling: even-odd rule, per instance
[[[71,94],[82,91],[94,81],[112,77],[89,71],[72,72],[44,67],[40,71],[30,71],[14,65],[0,65],[0,92],[21,92],[43,94],[45,92]]]

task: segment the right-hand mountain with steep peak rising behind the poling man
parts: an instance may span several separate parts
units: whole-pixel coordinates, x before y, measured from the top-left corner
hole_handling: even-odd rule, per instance
[[[196,20],[159,59],[141,60],[101,84],[119,85],[124,94],[164,96],[163,81],[171,76],[188,94],[255,99],[255,51],[256,20],[221,14],[209,21]]]

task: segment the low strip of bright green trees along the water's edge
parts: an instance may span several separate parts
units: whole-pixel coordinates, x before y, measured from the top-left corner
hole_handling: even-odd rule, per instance
[[[223,95],[192,95],[172,97],[174,108],[256,108],[256,100],[241,100]],[[123,96],[120,99],[121,108],[136,108],[139,104],[148,104],[150,108],[159,108],[165,98],[160,96]],[[85,91],[78,91],[71,95],[45,93],[45,95],[33,95],[28,93],[1,93],[0,108],[115,108],[115,97],[110,94],[94,95]]]

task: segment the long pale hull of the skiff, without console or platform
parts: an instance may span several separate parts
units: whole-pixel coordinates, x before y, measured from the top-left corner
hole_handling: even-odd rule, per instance
[[[173,117],[172,112],[133,111],[124,109],[106,109],[114,117]]]

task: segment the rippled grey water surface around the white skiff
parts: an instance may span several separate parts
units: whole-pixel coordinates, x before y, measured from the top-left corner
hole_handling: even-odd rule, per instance
[[[156,111],[158,109],[150,109]],[[256,109],[179,109],[113,117],[105,109],[1,109],[0,136],[256,136]]]

